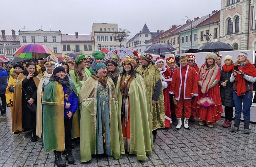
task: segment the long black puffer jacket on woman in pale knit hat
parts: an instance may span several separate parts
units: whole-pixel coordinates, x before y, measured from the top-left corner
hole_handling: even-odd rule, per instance
[[[221,94],[221,102],[222,105],[227,107],[234,107],[234,101],[233,101],[233,83],[229,81],[229,78],[232,74],[232,70],[229,72],[225,72],[223,69],[221,70],[221,79],[220,79],[220,94]],[[221,83],[225,82],[225,80],[228,80],[226,83],[227,86],[223,87]]]

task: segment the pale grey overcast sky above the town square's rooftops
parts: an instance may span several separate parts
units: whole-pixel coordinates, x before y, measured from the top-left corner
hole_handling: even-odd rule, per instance
[[[221,0],[6,0],[1,2],[0,28],[5,34],[18,30],[90,34],[93,23],[117,23],[130,38],[146,22],[150,31],[168,30],[220,10]]]

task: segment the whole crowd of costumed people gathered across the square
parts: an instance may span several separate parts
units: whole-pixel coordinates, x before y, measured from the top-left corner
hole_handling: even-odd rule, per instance
[[[92,155],[120,159],[125,151],[146,160],[154,150],[157,130],[177,121],[176,129],[189,129],[188,122],[213,127],[221,121],[238,132],[241,113],[244,133],[249,134],[252,85],[256,70],[245,52],[221,57],[205,56],[198,67],[193,54],[175,58],[149,53],[127,56],[120,61],[117,52],[105,59],[101,51],[92,57],[55,56],[3,65],[0,68],[1,114],[11,107],[12,132],[31,129],[31,141],[43,138],[44,151],[54,152],[54,163],[65,166],[61,152],[73,164],[72,139],[80,139],[81,161]],[[104,60],[105,59],[105,60]]]

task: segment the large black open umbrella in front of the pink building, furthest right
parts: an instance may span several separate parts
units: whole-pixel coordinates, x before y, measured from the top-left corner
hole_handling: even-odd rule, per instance
[[[203,45],[200,47],[197,52],[219,52],[219,51],[229,51],[235,50],[231,46],[223,43],[223,42],[210,42],[208,44]]]

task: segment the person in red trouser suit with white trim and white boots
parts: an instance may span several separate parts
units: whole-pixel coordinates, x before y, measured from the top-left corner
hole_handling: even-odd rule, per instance
[[[180,64],[181,67],[174,70],[172,76],[172,83],[170,88],[171,96],[174,96],[177,100],[177,106],[175,108],[175,113],[177,117],[176,129],[181,129],[181,118],[182,110],[184,109],[184,128],[188,129],[188,119],[191,115],[191,101],[192,98],[198,96],[197,88],[197,75],[194,68],[190,67],[188,64],[188,57],[181,56]]]

